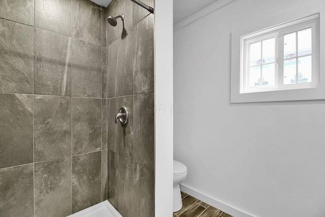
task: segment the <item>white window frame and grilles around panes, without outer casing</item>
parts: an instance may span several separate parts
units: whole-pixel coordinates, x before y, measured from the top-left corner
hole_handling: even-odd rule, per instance
[[[263,92],[263,91],[277,91],[282,89],[297,89],[297,88],[310,88],[310,87],[317,87],[319,85],[319,63],[318,54],[319,54],[319,40],[317,40],[317,35],[319,35],[319,28],[317,26],[319,20],[318,15],[312,15],[303,19],[299,19],[296,21],[288,22],[285,24],[281,24],[275,27],[262,30],[261,34],[259,32],[249,34],[246,36],[241,37],[241,49],[243,53],[241,55],[241,82],[240,82],[240,94],[245,94],[248,92]],[[296,83],[296,84],[284,84],[283,83],[283,65],[284,59],[283,57],[283,36],[290,33],[298,33],[300,30],[311,28],[311,35],[312,35],[312,53],[307,55],[298,55],[298,34],[296,34],[296,55],[292,58],[287,59],[297,59],[303,56],[310,56],[312,57],[312,79],[311,82],[306,83]],[[261,63],[256,66],[262,67],[263,65],[269,65],[274,63],[275,68],[275,83],[274,88],[270,89],[263,89],[263,85],[261,89],[254,89],[250,90],[248,88],[249,83],[249,68],[253,67],[249,65],[249,52],[250,52],[250,44],[256,42],[262,42],[267,39],[275,38],[275,60],[274,62],[270,62],[267,64],[263,64],[263,46],[261,46]],[[296,64],[298,68],[298,64]],[[262,77],[261,70],[261,77]],[[298,73],[298,69],[296,70]],[[297,76],[298,78],[298,76]]]

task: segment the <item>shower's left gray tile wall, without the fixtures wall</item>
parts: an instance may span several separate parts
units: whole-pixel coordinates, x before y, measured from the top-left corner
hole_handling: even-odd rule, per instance
[[[0,29],[0,216],[106,200],[106,9],[0,0]]]

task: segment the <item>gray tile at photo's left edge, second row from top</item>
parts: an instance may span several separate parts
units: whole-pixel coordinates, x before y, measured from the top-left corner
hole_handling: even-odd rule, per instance
[[[0,19],[0,29],[0,92],[32,94],[33,28]]]

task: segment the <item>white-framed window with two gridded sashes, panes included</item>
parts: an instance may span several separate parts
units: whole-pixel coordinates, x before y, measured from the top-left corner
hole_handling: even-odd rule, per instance
[[[241,37],[240,94],[319,86],[319,16]]]

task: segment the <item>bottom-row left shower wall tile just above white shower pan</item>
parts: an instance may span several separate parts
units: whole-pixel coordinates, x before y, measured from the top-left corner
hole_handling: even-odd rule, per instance
[[[102,151],[72,157],[72,213],[101,202]]]

